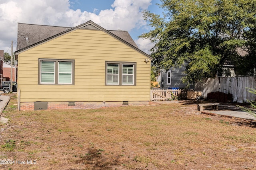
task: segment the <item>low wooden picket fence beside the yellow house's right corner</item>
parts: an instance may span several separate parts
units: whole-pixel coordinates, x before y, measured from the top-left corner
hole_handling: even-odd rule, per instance
[[[151,101],[173,100],[175,97],[180,97],[181,89],[175,90],[163,90],[153,89],[151,90]]]

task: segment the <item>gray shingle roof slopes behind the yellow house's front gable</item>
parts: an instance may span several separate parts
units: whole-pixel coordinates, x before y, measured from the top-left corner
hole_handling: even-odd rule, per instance
[[[71,27],[18,23],[17,51],[68,29],[71,29]],[[113,33],[114,35],[118,36],[119,38],[123,39],[127,43],[130,43],[138,49],[138,46],[127,31],[111,30],[109,32]]]

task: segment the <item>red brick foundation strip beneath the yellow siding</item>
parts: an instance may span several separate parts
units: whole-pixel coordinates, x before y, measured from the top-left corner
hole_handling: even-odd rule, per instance
[[[123,102],[74,102],[75,106],[68,106],[69,102],[48,102],[48,109],[97,109],[102,107],[120,107],[120,106],[143,106],[148,105],[148,101],[132,101],[128,105]],[[20,110],[34,110],[34,102],[21,102]]]

